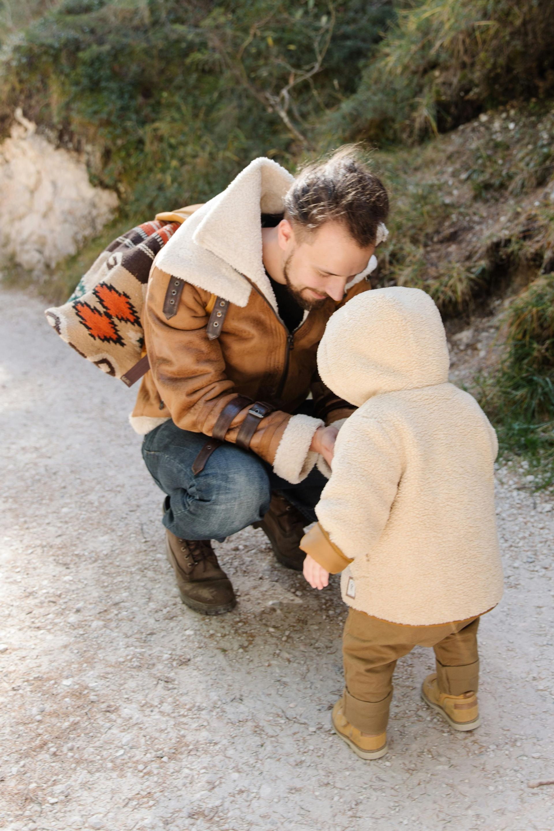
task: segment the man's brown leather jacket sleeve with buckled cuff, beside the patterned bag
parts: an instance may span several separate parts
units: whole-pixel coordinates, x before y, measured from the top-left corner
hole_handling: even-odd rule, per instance
[[[168,280],[169,275],[154,268],[143,315],[145,342],[154,383],[178,427],[213,435],[218,417],[238,393],[233,381],[226,375],[218,340],[210,341],[206,334],[208,312],[205,303],[209,294],[185,283],[178,310],[168,320],[163,312]],[[234,443],[237,440],[238,430],[249,408],[248,404],[233,418],[225,434],[226,441]],[[262,418],[252,436],[250,449],[274,464],[277,449],[292,418],[282,411],[274,411]],[[294,418],[298,419],[298,416]],[[308,419],[308,416],[302,418]],[[310,422],[312,421],[318,425],[315,420],[311,419]],[[302,448],[304,445],[309,447],[314,425],[305,425],[304,432],[306,436],[303,436],[302,424],[295,422],[295,435],[302,434],[303,437]],[[316,454],[308,455],[313,459],[306,458],[305,467],[312,466],[316,460]],[[306,457],[306,452],[304,456]],[[301,479],[302,473],[306,475],[302,470],[299,474]]]

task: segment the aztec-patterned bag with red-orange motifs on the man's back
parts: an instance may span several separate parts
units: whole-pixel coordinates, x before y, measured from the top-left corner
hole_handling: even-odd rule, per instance
[[[115,239],[63,306],[46,310],[63,341],[131,386],[148,371],[140,315],[155,255],[199,205],[158,214]]]

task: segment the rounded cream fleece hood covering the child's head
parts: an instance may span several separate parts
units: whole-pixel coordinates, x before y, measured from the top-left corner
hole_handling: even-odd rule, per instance
[[[384,392],[449,380],[449,349],[439,309],[419,288],[377,288],[331,316],[317,350],[323,381],[361,406]]]

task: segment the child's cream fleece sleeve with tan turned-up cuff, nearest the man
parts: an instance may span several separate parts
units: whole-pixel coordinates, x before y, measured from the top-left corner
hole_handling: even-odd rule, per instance
[[[302,551],[338,573],[375,545],[385,529],[402,475],[402,452],[378,420],[349,419],[336,439],[332,475],[316,505],[319,523]]]

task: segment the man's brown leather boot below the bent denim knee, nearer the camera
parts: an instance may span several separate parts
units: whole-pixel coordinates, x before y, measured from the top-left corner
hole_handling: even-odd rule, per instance
[[[180,539],[166,529],[165,550],[186,606],[203,615],[231,611],[237,598],[209,539]]]

